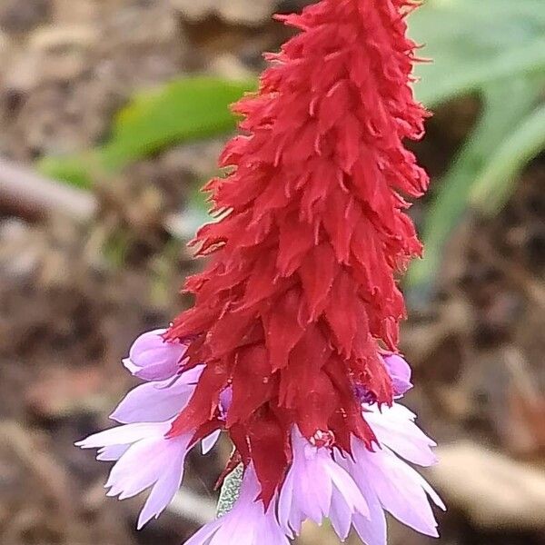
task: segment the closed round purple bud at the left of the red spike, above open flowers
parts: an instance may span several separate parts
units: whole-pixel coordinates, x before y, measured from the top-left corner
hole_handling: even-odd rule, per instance
[[[134,341],[124,366],[144,381],[164,381],[180,371],[187,350],[181,342],[163,339],[164,329],[146,332]]]

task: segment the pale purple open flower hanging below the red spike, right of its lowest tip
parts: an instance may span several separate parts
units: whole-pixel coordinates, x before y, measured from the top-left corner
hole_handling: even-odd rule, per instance
[[[299,534],[304,520],[321,524],[332,521],[342,540],[350,531],[352,517],[369,514],[367,502],[352,477],[333,461],[332,451],[316,447],[301,432],[292,431],[292,467],[282,484],[278,518],[290,536]]]

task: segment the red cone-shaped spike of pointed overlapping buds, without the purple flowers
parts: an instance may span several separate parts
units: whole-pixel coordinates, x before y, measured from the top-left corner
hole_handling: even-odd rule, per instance
[[[191,339],[188,367],[206,367],[170,434],[223,425],[265,502],[291,461],[293,424],[311,440],[331,432],[343,451],[352,434],[372,448],[355,385],[391,403],[380,354],[396,351],[405,315],[394,274],[421,253],[403,196],[428,185],[402,143],[421,138],[426,116],[410,86],[413,6],[322,0],[282,16],[302,32],[234,106],[244,134],[221,157],[233,172],[205,187],[226,215],[193,241],[213,257],[186,282],[195,304],[166,337]]]

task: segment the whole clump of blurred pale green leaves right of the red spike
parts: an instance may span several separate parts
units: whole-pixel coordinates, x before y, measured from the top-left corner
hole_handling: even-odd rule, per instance
[[[417,66],[416,94],[434,106],[481,94],[476,126],[437,183],[423,225],[423,260],[412,263],[413,292],[430,292],[443,246],[470,201],[497,212],[516,173],[543,148],[540,115],[526,119],[545,84],[545,3],[542,0],[428,0],[411,15],[411,36],[432,58]],[[542,116],[541,116],[542,118]],[[512,134],[513,127],[519,127]]]

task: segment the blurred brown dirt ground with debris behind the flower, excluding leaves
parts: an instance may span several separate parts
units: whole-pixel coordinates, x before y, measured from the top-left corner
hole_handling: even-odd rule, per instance
[[[180,74],[253,74],[261,53],[286,37],[272,10],[302,4],[1,0],[0,156],[32,165],[87,149],[135,91]],[[469,131],[471,104],[441,108],[416,147],[433,177]],[[189,492],[136,532],[140,500],[106,500],[107,464],[73,443],[104,427],[134,384],[120,364],[134,337],[186,303],[176,288],[202,263],[164,218],[213,172],[221,145],[179,146],[97,181],[90,223],[63,214],[33,221],[0,193],[3,545],[174,545],[212,509],[228,445],[192,456]],[[425,205],[414,212],[421,218]],[[437,291],[413,305],[403,328],[417,384],[407,402],[441,444],[441,464],[427,476],[451,506],[439,515],[445,545],[545,543],[544,278],[539,157],[499,216],[467,214]],[[335,541],[309,527],[302,542]],[[391,525],[392,545],[429,542]]]

